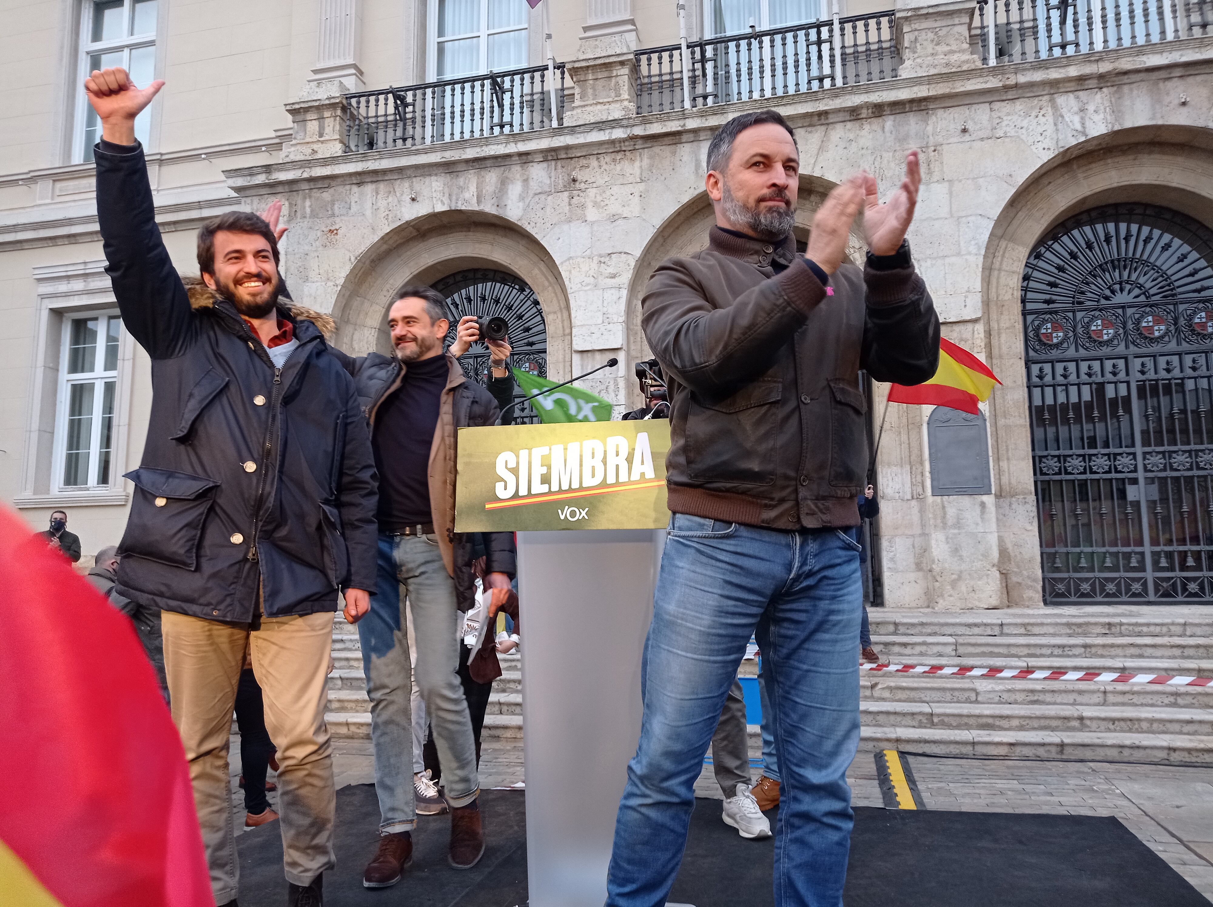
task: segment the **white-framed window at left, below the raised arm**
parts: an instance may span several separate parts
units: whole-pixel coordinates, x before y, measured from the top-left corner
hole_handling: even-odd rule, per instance
[[[86,315],[63,324],[66,355],[56,426],[62,451],[56,469],[59,490],[109,487],[121,331],[118,315]]]

